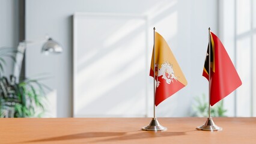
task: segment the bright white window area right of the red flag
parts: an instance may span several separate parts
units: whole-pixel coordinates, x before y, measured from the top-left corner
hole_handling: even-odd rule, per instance
[[[254,3],[254,6],[251,5]],[[227,116],[256,116],[255,95],[255,19],[256,1],[227,0],[220,2],[220,36],[242,85],[224,100]],[[235,13],[236,11],[236,13]]]

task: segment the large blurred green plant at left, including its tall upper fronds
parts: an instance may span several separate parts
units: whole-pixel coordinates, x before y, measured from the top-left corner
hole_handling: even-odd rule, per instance
[[[49,89],[38,79],[23,79],[19,77],[3,76],[5,58],[16,62],[14,55],[19,53],[15,49],[0,48],[0,117],[1,118],[25,118],[41,117],[45,111],[46,100],[44,89]],[[22,53],[23,54],[23,53]],[[43,78],[44,79],[44,78]]]

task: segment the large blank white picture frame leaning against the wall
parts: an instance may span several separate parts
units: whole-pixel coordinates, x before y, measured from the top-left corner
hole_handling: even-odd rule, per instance
[[[148,20],[73,15],[73,117],[147,115]]]

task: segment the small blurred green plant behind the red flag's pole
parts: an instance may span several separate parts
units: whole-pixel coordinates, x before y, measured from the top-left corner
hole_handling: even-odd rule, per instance
[[[203,94],[203,97],[195,97],[194,102],[195,104],[192,106],[192,116],[207,117],[209,115],[209,101],[206,95]],[[211,116],[213,117],[226,116],[225,113],[227,112],[227,110],[224,109],[223,100],[212,106],[210,110]]]

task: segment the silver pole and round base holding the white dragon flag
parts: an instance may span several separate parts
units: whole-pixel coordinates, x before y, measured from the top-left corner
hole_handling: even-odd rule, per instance
[[[153,29],[155,34],[156,28],[153,28]],[[154,36],[154,45],[155,45],[155,36]],[[142,127],[141,129],[144,131],[165,131],[167,130],[167,128],[160,125],[156,118],[156,62],[155,62],[156,49],[154,45],[153,45],[153,49],[154,49],[154,60],[153,60],[153,63],[154,63],[154,118],[152,118],[149,125],[147,125],[146,127]]]

